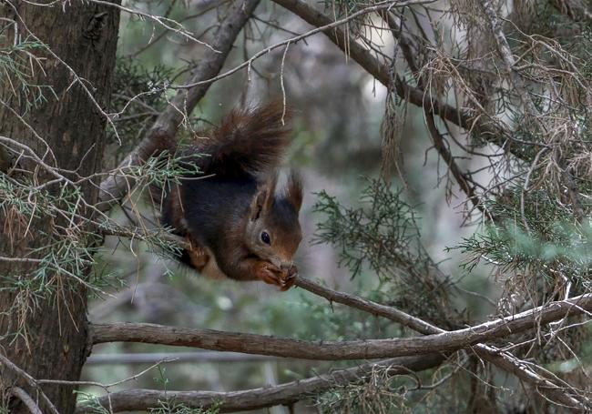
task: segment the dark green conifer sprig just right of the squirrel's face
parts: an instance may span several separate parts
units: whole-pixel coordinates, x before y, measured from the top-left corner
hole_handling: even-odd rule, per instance
[[[362,207],[343,207],[324,191],[314,208],[325,215],[317,225],[316,241],[332,243],[339,264],[352,278],[368,266],[388,291],[390,304],[441,323],[450,323],[445,311],[449,280],[425,251],[413,207],[400,190],[383,180],[367,180]]]

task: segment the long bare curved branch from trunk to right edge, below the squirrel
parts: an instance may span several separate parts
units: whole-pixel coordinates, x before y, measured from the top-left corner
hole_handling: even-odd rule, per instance
[[[592,294],[581,295],[526,310],[509,318],[498,318],[470,328],[419,338],[367,339],[350,341],[305,341],[210,329],[176,328],[154,324],[93,324],[93,344],[143,342],[247,354],[303,359],[393,358],[467,348],[480,342],[504,338],[560,318],[592,311]]]

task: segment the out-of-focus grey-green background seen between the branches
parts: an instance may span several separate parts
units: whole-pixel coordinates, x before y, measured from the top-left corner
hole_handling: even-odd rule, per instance
[[[131,5],[150,15],[168,15],[204,40],[208,40],[211,27],[219,18],[219,2],[211,0],[134,1]],[[309,29],[309,25],[278,5],[262,2],[236,42],[225,68],[239,65],[266,45]],[[383,50],[390,54],[391,37],[384,39]],[[375,40],[381,43],[380,38]],[[203,52],[202,45],[186,42],[149,19],[122,14],[115,105],[119,105],[118,98],[128,99],[165,79],[180,82],[184,78],[180,72],[189,61],[199,61]],[[249,73],[241,70],[216,82],[193,114],[195,126],[199,129],[218,124],[236,106],[281,100],[282,87],[293,113],[292,145],[285,167],[301,171],[305,190],[301,210],[304,239],[295,259],[301,275],[362,297],[396,301],[397,298],[389,298],[390,290],[384,288],[371,268],[362,268],[352,278],[347,268],[340,267],[340,247],[319,242],[315,236],[318,224],[326,220],[322,213],[315,212],[319,192],[326,191],[344,207],[358,207],[362,189],[367,185],[364,177],[379,177],[381,125],[387,99],[384,86],[346,58],[324,35],[314,35],[290,45],[287,51],[279,48],[262,56]],[[174,93],[150,97],[152,107],[158,110]],[[456,308],[473,320],[483,320],[494,307],[491,300],[479,295],[494,302],[497,297],[487,269],[476,268],[470,277],[465,277],[459,264],[466,257],[458,249],[445,250],[457,246],[475,230],[466,223],[464,195],[459,195],[454,186],[452,197],[446,191],[446,168],[431,148],[423,112],[413,106],[397,106],[397,111],[404,122],[399,126],[403,128],[401,162],[398,169],[391,167],[393,188],[403,190],[402,197],[413,207],[425,251],[460,288],[475,292],[457,295]],[[116,125],[126,130],[130,138],[123,146],[113,139],[106,168],[117,165],[137,142],[133,137],[139,138],[153,120],[150,111],[142,116],[134,105],[129,106],[128,112],[133,112],[133,116],[122,114]],[[478,167],[469,166],[474,161],[468,159],[458,162],[461,167]],[[148,213],[147,209],[147,216]],[[127,222],[122,211],[114,215],[121,223]],[[114,275],[107,278],[113,281],[107,287],[113,296],[93,298],[89,314],[93,322],[148,322],[311,340],[389,338],[401,334],[377,318],[331,306],[300,288],[280,292],[258,282],[202,278],[141,243],[130,245],[129,240],[117,237],[107,237],[97,272]],[[120,389],[249,389],[352,365],[117,343],[93,348],[83,379],[102,383],[128,379],[162,359],[175,358],[176,354],[179,360],[150,369],[138,379],[121,384]],[[296,412],[316,412],[310,403],[299,403],[297,408]],[[288,409],[278,407],[260,412],[279,414]]]

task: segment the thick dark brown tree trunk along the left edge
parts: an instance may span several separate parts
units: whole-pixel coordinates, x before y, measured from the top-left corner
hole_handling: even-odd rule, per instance
[[[28,49],[31,54],[42,57],[41,60],[30,59],[24,52],[11,54],[23,60],[20,70],[26,77],[11,76],[11,82],[5,77],[0,82],[0,136],[30,147],[48,166],[69,170],[62,172],[69,179],[92,175],[101,166],[105,146],[106,117],[99,107],[102,110],[108,107],[119,10],[86,2],[53,2],[43,6],[9,1],[0,5],[0,16],[5,18],[0,21],[4,26],[4,37],[0,37],[3,45],[26,40],[45,44]],[[3,72],[1,76],[5,75]],[[82,78],[81,82],[77,76]],[[33,86],[29,93],[24,92],[24,82]],[[35,102],[39,92],[45,98]],[[89,94],[94,96],[95,102]],[[6,141],[0,144],[6,145]],[[22,152],[22,147],[10,143],[7,146],[12,151],[5,152],[10,153],[13,161],[18,159],[17,168],[9,174],[11,179],[33,186],[56,179],[47,168],[40,167],[38,160],[18,157],[17,152]],[[30,156],[27,150],[24,156]],[[2,174],[0,172],[0,178]],[[94,184],[82,181],[77,186],[89,204],[97,200],[98,181],[98,178]],[[45,187],[50,197],[58,197],[63,188],[64,182]],[[67,187],[68,190],[73,188],[72,185]],[[37,206],[36,217],[31,219],[31,214],[27,215],[15,204],[6,202],[3,206],[2,191],[0,188],[2,257],[45,257],[50,243],[74,237],[69,230],[76,230],[76,226],[82,224],[80,217],[75,220],[59,214],[52,217],[40,208],[46,206]],[[44,197],[30,192],[28,202],[35,205],[46,200]],[[80,206],[67,208],[76,208],[83,217],[91,215]],[[85,237],[81,240],[91,242]],[[33,252],[33,249],[39,250]],[[90,268],[82,266],[76,275],[67,275],[51,270],[41,273],[38,266],[38,262],[0,258],[0,353],[34,379],[77,380],[89,349],[87,290],[75,277],[86,279]],[[36,278],[44,277],[46,291],[35,292],[35,287],[40,286],[38,283],[42,283],[37,283]],[[35,281],[31,285],[33,288],[27,288],[27,283],[32,281]],[[14,397],[13,386],[25,389],[43,412],[50,412],[23,375],[0,362],[0,389],[4,394],[0,406],[7,405],[11,413],[29,412],[22,399]],[[73,389],[64,385],[41,387],[62,414],[74,412]]]

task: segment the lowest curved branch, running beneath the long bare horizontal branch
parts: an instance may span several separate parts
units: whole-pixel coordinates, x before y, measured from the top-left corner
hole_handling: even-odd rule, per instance
[[[113,412],[142,411],[158,407],[159,401],[174,400],[188,408],[208,409],[215,406],[219,412],[247,409],[263,409],[280,404],[291,404],[308,395],[319,394],[327,389],[345,385],[353,381],[367,380],[375,369],[386,369],[390,376],[405,375],[440,365],[444,357],[429,354],[421,357],[403,357],[365,364],[362,367],[342,369],[310,379],[301,379],[274,387],[261,387],[231,392],[213,391],[160,391],[156,389],[128,389],[115,392],[98,399],[98,402]],[[78,407],[77,414],[92,412]]]

